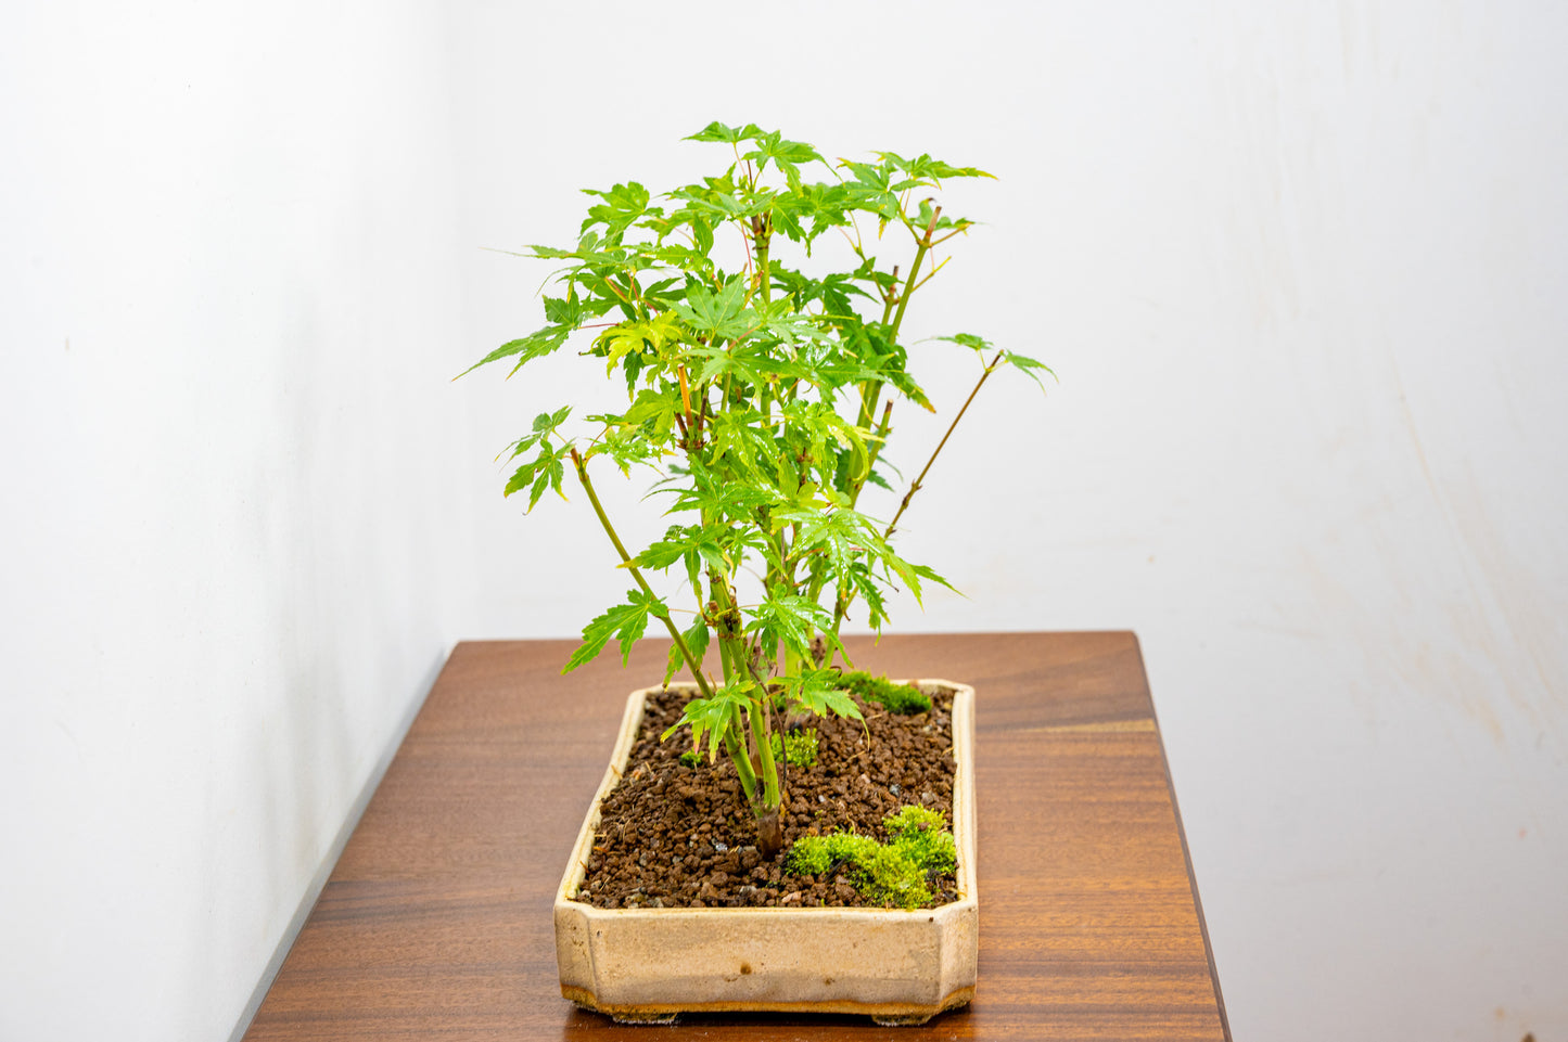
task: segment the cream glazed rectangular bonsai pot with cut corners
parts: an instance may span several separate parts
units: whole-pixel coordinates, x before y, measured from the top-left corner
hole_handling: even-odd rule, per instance
[[[626,700],[610,766],[555,893],[561,995],[622,1022],[668,1022],[681,1012],[782,1011],[869,1014],[884,1025],[914,1025],[967,1004],[980,943],[974,688],[947,680],[909,683],[925,694],[953,696],[956,901],[914,912],[596,909],[574,901],[599,826],[599,801],[632,755],[644,696],[660,689],[643,688]]]

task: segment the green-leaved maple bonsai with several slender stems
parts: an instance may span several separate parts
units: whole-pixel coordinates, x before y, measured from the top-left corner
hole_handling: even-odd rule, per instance
[[[787,713],[859,716],[836,685],[836,658],[848,661],[840,627],[861,605],[880,631],[886,591],[919,600],[927,583],[947,584],[894,550],[898,520],[991,373],[1013,365],[1038,382],[1046,367],[971,334],[942,337],[980,356],[975,387],[892,519],[859,512],[869,483],[891,487],[895,411],[933,409],[909,374],[903,321],[946,263],[941,248],[971,227],[933,193],[989,174],[894,152],[829,163],[751,124],[713,122],[688,139],[723,146],[718,171],[657,199],[637,182],[588,190],[577,243],[524,254],[561,263],[546,324],[472,368],[510,360],[516,373],[575,337],[624,384],[619,412],[571,426],[572,403],[541,412],[503,451],[521,461],[505,494],[527,492],[532,511],[546,490],[564,498],[569,470],[633,588],[588,622],[564,669],[610,639],[624,663],[657,620],[673,642],[665,682],[685,666],[699,689],[677,727],[734,763],[771,859],[787,769],[773,735]],[[818,273],[812,244],[829,232],[851,263]],[[674,523],[635,553],[594,489],[591,472],[610,465],[651,472],[668,497]],[[668,572],[688,589],[684,605],[648,580]]]

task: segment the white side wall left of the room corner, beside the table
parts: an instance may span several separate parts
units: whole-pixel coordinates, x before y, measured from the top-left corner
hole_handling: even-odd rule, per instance
[[[0,1039],[229,1036],[470,566],[433,3],[0,16]]]

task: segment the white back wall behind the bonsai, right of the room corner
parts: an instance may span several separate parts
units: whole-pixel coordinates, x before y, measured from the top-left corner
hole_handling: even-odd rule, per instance
[[[1565,38],[1479,2],[474,3],[463,237],[566,241],[575,188],[677,183],[709,119],[1000,174],[953,186],[991,224],[909,323],[1062,384],[986,389],[905,525],[969,600],[897,622],[1138,630],[1236,1037],[1560,1037]],[[470,257],[475,356],[544,276]],[[475,451],[572,396],[554,362],[464,381]],[[474,636],[624,589],[582,503],[488,481]]]

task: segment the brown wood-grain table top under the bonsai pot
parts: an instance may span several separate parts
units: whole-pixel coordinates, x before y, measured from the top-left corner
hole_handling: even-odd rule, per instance
[[[850,642],[856,666],[977,691],[969,1009],[922,1028],[579,1011],[560,997],[550,901],[626,694],[657,682],[665,647],[561,677],[571,649],[452,652],[246,1039],[1229,1039],[1132,633]]]

